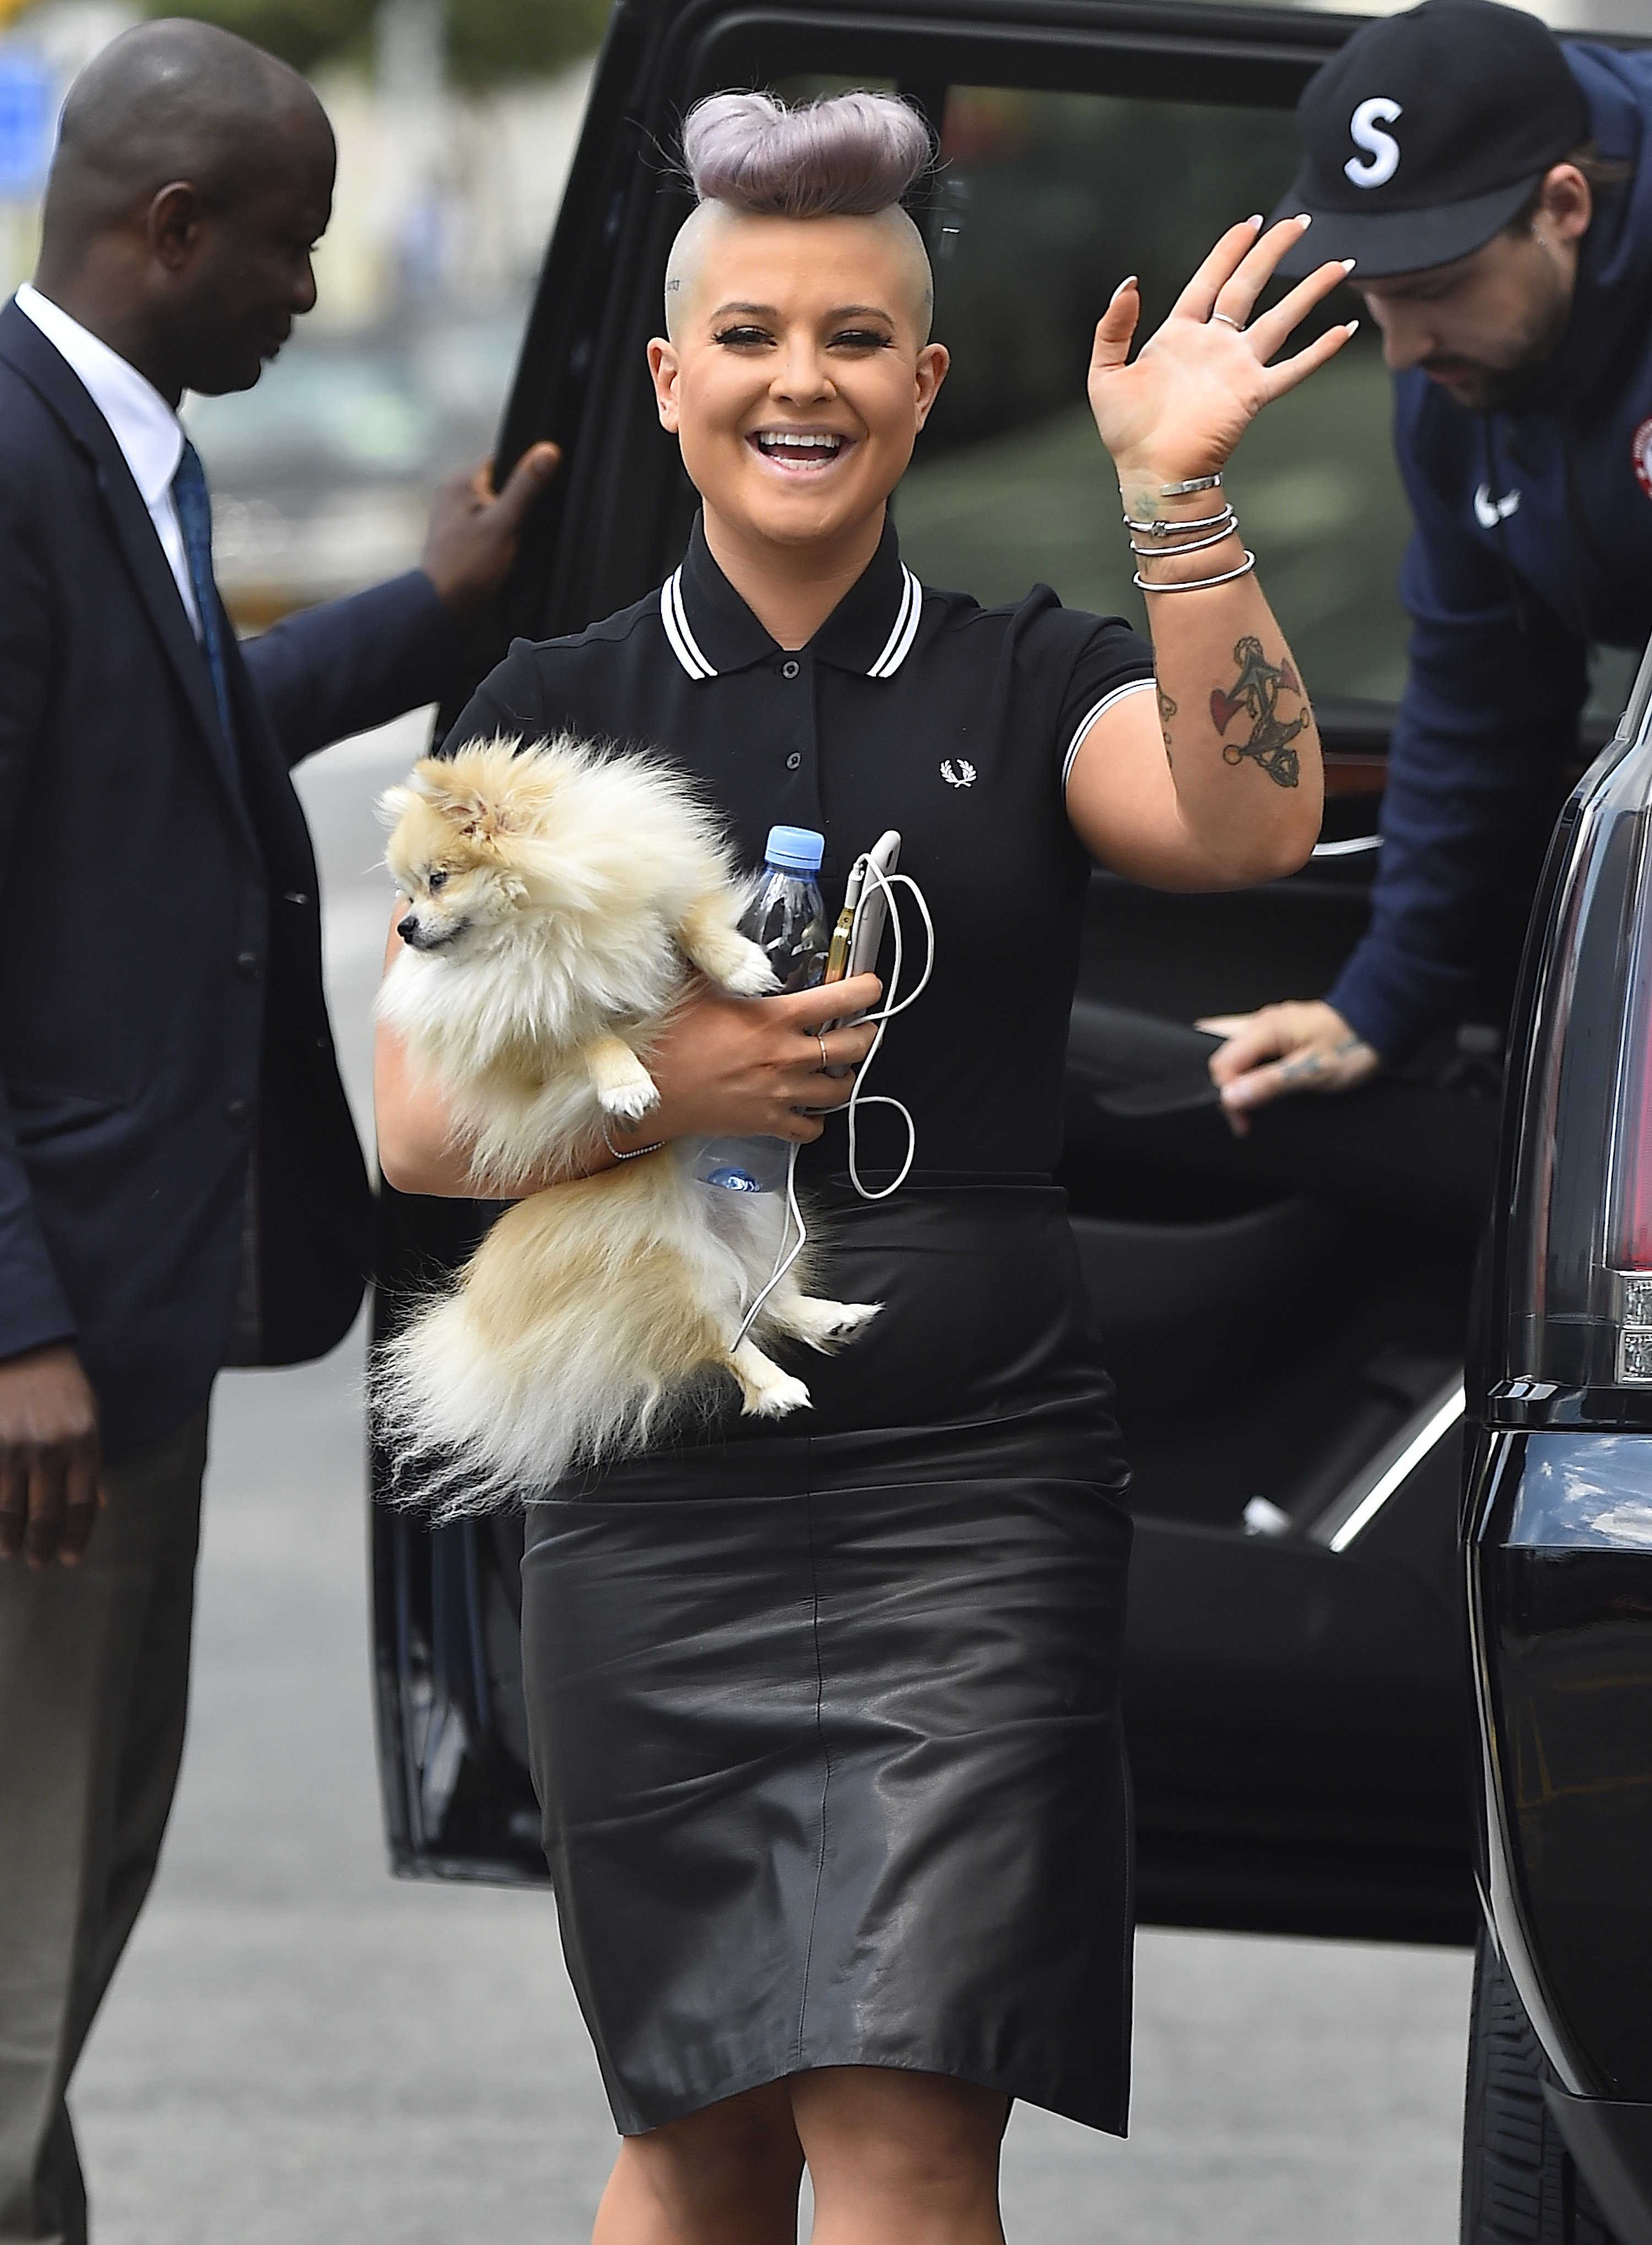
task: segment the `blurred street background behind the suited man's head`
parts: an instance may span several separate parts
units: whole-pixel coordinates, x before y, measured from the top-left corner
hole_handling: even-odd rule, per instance
[[[492,451],[606,0],[0,0],[0,299],[34,265],[63,92],[144,13],[283,54],[339,139],[314,314],[256,391],[184,415],[218,581],[256,629],[404,570],[435,480]]]

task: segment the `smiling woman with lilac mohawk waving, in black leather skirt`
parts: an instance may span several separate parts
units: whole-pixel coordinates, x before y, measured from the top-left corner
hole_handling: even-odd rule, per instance
[[[790,1426],[729,1396],[527,1491],[534,1780],[626,2137],[597,2238],[779,2245],[808,2162],[822,2241],[997,2245],[1010,2099],[1122,2131],[1129,2072],[1127,1470],[1050,1183],[1082,898],[1091,855],[1223,887],[1318,835],[1313,712],[1221,471],[1347,339],[1270,364],[1342,267],[1252,321],[1302,227],[1246,220],[1134,359],[1136,283],[1104,308],[1089,402],[1149,649],[1048,586],[983,608],[900,559],[889,498],[949,368],[900,209],[920,119],[723,94],[685,155],[649,368],[689,550],[622,615],[518,644],[449,748],[664,750],[747,862],[770,824],[817,828],[830,909],[898,828],[936,965],[880,1062],[918,1136],[893,1199],[857,1201],[824,1138],[869,1033],[819,1030],[871,983],[691,997],[613,1143],[797,1140],[833,1289],[882,1311]],[[379,1093],[386,1176],[471,1192],[388,1030]]]

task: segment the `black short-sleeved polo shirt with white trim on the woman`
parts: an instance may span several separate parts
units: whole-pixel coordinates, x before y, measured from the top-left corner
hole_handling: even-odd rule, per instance
[[[918,1176],[1046,1176],[1059,1154],[1062,1060],[1089,855],[1064,781],[1095,716],[1151,687],[1147,644],[1118,617],[1035,586],[1015,608],[920,586],[893,525],[808,647],[790,653],[712,559],[700,523],[658,593],[568,640],[518,640],[483,680],[447,752],[492,734],[572,732],[664,752],[721,806],[747,867],[770,826],[826,835],[835,916],[855,855],[900,828],[900,869],[936,923],[934,981],[889,1026],[869,1091],[918,1125]],[[902,898],[909,977],[923,927]],[[884,965],[889,945],[884,945]],[[907,977],[907,979],[909,979]],[[866,1116],[862,1165],[905,1145]],[[844,1122],[804,1149],[844,1167]]]

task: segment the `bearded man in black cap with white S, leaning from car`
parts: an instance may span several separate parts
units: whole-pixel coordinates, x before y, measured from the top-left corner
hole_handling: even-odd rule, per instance
[[[1297,119],[1282,209],[1313,227],[1279,269],[1358,260],[1412,640],[1367,936],[1329,997],[1201,1021],[1237,1129],[1506,1006],[1589,651],[1652,635],[1652,54],[1423,0],[1356,31]]]

